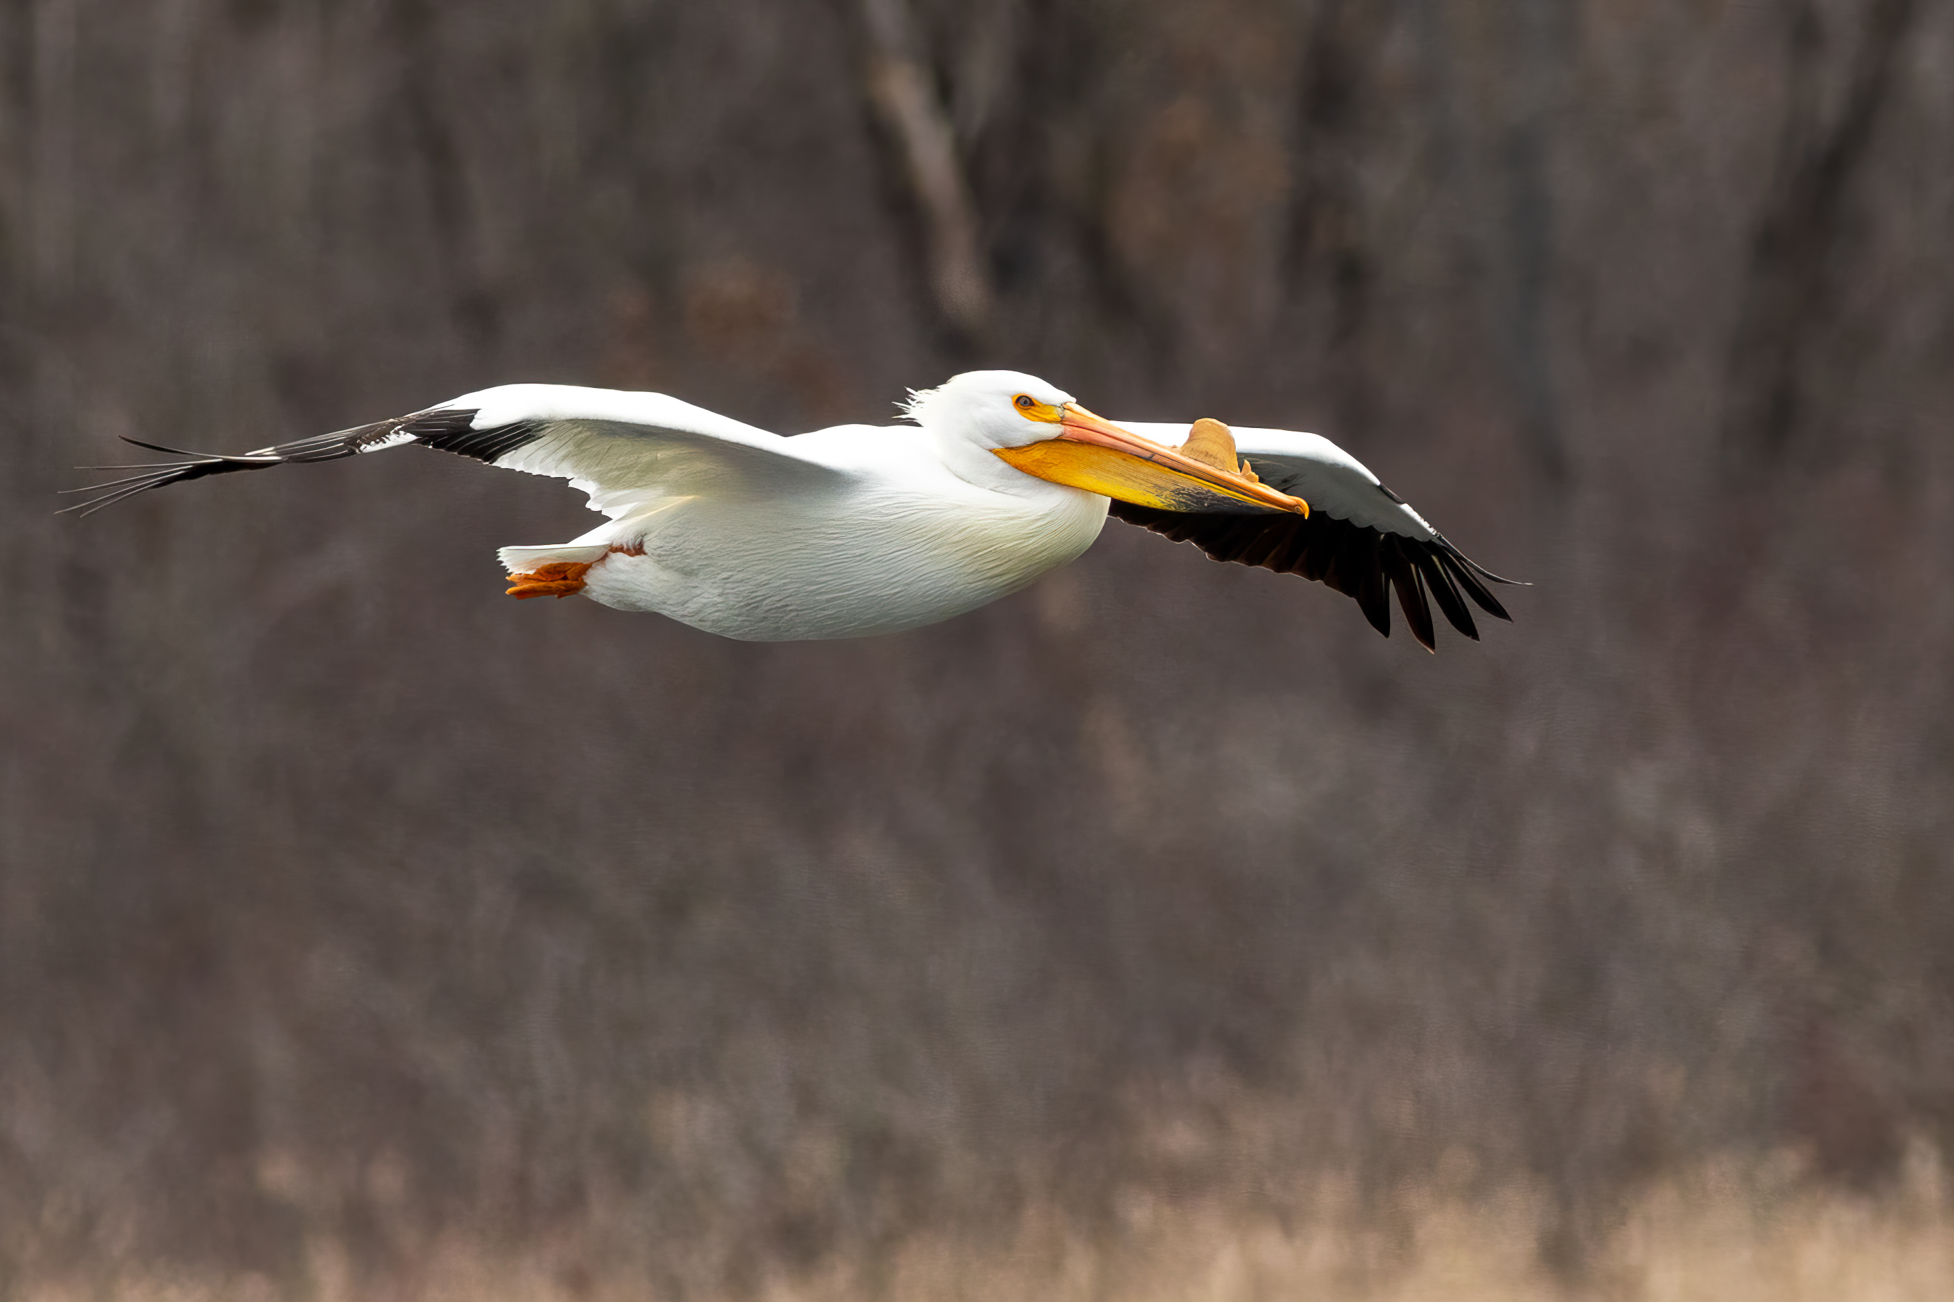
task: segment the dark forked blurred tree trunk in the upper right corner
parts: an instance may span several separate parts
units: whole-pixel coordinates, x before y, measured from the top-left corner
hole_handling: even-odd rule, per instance
[[[1790,70],[1778,174],[1751,236],[1729,359],[1723,457],[1731,468],[1776,461],[1798,429],[1811,332],[1831,301],[1845,197],[1891,96],[1893,61],[1913,0],[1870,0],[1845,102],[1821,123],[1825,33],[1811,0],[1790,12]]]

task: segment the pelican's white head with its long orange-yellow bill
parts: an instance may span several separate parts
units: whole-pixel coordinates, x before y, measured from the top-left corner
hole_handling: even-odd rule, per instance
[[[1022,371],[967,371],[911,394],[907,412],[924,429],[967,439],[1024,474],[1106,498],[1167,511],[1309,513],[1299,498],[1253,474],[1143,439]]]

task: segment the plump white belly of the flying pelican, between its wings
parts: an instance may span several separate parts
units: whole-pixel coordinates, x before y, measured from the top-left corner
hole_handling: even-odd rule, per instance
[[[612,525],[629,550],[592,566],[584,595],[744,642],[870,636],[1012,593],[1079,556],[1104,521],[1106,498],[1055,484],[674,498]]]

